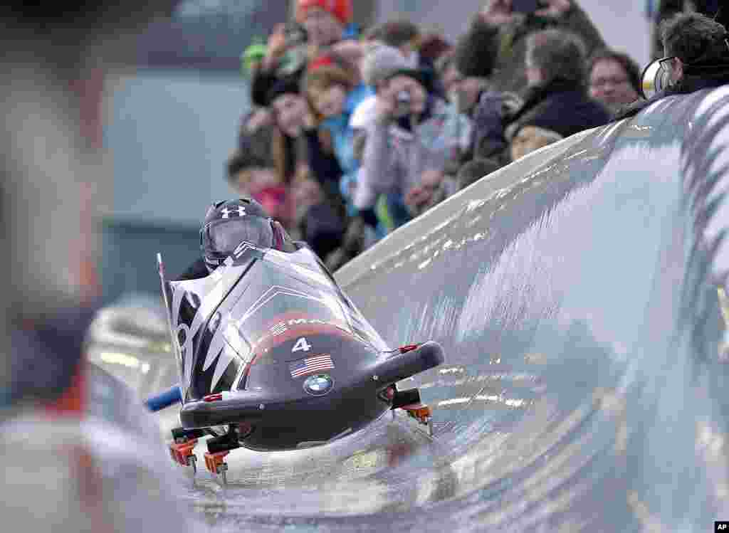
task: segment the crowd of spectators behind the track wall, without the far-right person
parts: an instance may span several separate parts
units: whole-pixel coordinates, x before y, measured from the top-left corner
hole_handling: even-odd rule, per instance
[[[333,269],[454,192],[641,101],[641,69],[577,0],[487,0],[456,42],[352,0],[296,0],[243,54],[252,110],[227,161]],[[728,44],[729,47],[729,44]]]

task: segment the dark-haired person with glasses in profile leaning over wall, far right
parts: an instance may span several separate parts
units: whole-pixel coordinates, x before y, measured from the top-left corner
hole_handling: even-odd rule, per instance
[[[681,13],[661,27],[666,57],[659,69],[668,87],[648,100],[628,106],[618,117],[631,117],[655,101],[729,84],[729,34],[715,20],[699,13]]]

